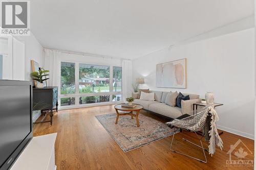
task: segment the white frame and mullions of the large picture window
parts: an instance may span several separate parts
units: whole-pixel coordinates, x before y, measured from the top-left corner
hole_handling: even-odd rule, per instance
[[[117,103],[122,103],[122,99],[120,101],[113,102],[113,94],[121,94],[121,91],[113,91],[113,67],[122,67],[121,65],[113,65],[113,64],[100,64],[100,63],[91,63],[91,62],[80,62],[80,61],[71,61],[71,60],[60,60],[60,68],[59,68],[59,89],[61,87],[61,62],[70,62],[75,63],[75,93],[74,94],[58,94],[58,101],[60,109],[70,109],[70,108],[81,108],[81,107],[91,107],[91,106],[100,106],[100,105],[112,105]],[[90,65],[102,65],[110,67],[110,92],[93,92],[93,93],[79,93],[79,64],[90,64]],[[122,75],[123,76],[123,75]],[[83,96],[98,96],[98,95],[110,95],[110,102],[102,102],[102,103],[92,103],[92,104],[79,104],[79,98]],[[60,99],[61,98],[75,98],[75,105],[69,106],[61,106]]]

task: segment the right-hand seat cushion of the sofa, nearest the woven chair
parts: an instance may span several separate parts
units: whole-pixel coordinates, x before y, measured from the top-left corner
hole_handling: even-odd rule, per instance
[[[170,118],[177,118],[182,115],[181,108],[172,107],[172,106],[166,105],[165,103],[151,104],[148,106],[148,110],[158,114],[162,114]]]

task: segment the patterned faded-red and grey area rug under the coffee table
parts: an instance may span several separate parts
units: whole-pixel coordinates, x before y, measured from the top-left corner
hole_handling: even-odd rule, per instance
[[[135,116],[134,119],[131,119],[130,115],[119,116],[117,125],[115,124],[116,113],[102,114],[95,117],[123,152],[129,152],[174,133],[174,130],[164,123],[143,114],[139,114],[140,127],[136,126]]]

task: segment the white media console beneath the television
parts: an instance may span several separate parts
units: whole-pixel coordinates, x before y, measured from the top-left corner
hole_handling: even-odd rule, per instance
[[[33,137],[11,170],[54,170],[57,133]]]

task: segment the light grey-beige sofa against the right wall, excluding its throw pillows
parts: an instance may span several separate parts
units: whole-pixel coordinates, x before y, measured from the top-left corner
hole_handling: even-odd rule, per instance
[[[190,100],[182,100],[181,108],[172,107],[165,104],[165,98],[168,91],[150,90],[150,92],[155,93],[155,101],[139,100],[138,93],[132,93],[132,97],[135,99],[133,103],[142,105],[144,110],[148,110],[172,119],[177,118],[182,114],[189,114],[189,112],[193,110],[193,104],[201,102],[198,94],[183,93],[183,95],[189,95]]]

